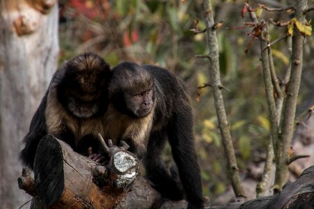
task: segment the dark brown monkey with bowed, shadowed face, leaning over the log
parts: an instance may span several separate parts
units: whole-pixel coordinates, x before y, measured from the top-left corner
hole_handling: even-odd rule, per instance
[[[53,134],[75,151],[98,152],[97,134],[105,134],[103,114],[107,109],[110,66],[98,55],[85,53],[62,63],[54,73],[20,153],[22,164],[33,169],[40,139]]]

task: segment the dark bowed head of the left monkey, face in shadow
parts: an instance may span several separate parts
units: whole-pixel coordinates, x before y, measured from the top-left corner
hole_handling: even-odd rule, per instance
[[[96,116],[105,109],[110,66],[97,54],[84,53],[63,63],[63,78],[57,86],[59,101],[79,118]]]

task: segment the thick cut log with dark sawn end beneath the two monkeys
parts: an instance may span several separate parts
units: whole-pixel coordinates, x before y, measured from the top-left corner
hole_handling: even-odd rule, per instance
[[[186,208],[186,201],[161,201],[160,194],[148,180],[121,181],[138,169],[136,160],[124,149],[108,145],[111,167],[75,153],[68,144],[48,134],[40,141],[34,162],[34,179],[29,172],[19,178],[21,188],[33,196],[31,208]],[[127,155],[127,156],[124,156]],[[119,160],[114,160],[119,158]],[[126,159],[128,158],[128,159]],[[119,163],[119,162],[120,163]],[[126,169],[127,162],[128,169]],[[136,164],[137,165],[137,164]],[[126,171],[127,170],[127,171]],[[25,174],[26,173],[26,174]],[[132,172],[131,172],[132,173]],[[33,184],[27,184],[33,182]],[[29,186],[27,186],[29,185]],[[35,188],[35,189],[31,189]]]

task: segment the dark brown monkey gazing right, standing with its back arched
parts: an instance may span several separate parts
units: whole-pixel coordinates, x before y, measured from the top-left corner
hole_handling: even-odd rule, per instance
[[[203,208],[193,114],[181,81],[163,68],[124,62],[112,70],[108,93],[107,139],[124,140],[144,157],[147,176],[163,196],[185,194],[188,208]],[[176,163],[171,171],[161,159],[166,139]]]

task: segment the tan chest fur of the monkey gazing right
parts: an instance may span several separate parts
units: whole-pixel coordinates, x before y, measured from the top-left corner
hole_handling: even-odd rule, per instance
[[[105,136],[107,139],[112,139],[114,144],[117,144],[120,139],[132,139],[135,144],[146,146],[153,117],[154,107],[144,118],[130,118],[119,113],[110,104],[105,114]]]

